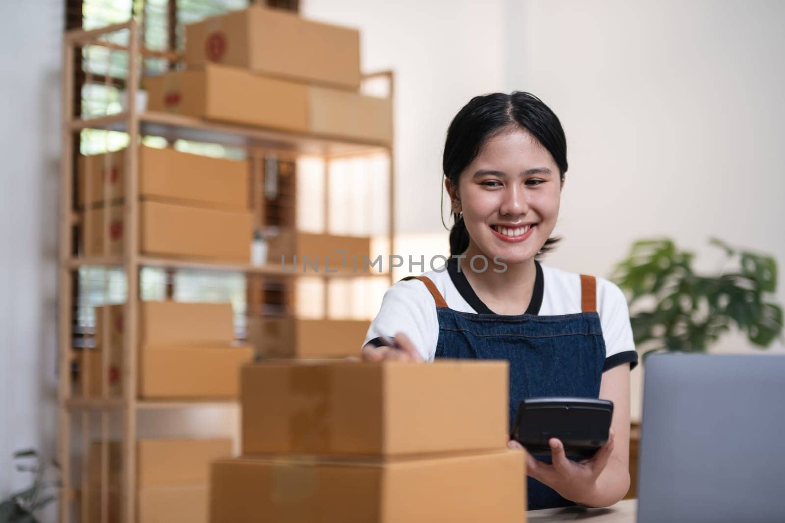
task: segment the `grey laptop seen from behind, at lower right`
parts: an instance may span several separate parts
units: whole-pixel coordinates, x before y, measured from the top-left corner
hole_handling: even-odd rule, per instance
[[[637,521],[785,521],[785,354],[644,365]]]

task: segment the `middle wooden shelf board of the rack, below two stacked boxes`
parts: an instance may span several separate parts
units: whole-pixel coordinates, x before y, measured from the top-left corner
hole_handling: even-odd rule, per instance
[[[221,271],[221,272],[242,272],[244,274],[259,274],[267,276],[281,276],[291,278],[316,277],[316,278],[389,278],[389,271],[367,271],[354,272],[346,268],[330,268],[330,272],[320,270],[318,273],[309,269],[303,272],[302,267],[298,271],[287,272],[277,264],[267,263],[265,265],[252,265],[250,263],[231,263],[218,261],[194,261],[180,260],[177,258],[159,258],[155,256],[139,256],[137,258],[140,267],[160,267],[163,269],[194,269],[197,271]],[[68,260],[68,267],[76,269],[79,267],[122,267],[125,260],[122,256],[89,256],[75,257]],[[335,272],[332,272],[335,271]]]

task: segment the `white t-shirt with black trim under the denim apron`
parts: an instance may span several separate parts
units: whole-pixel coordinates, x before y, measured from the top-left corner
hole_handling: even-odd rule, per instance
[[[558,316],[581,312],[580,275],[548,267],[536,262],[538,277],[526,314]],[[454,311],[494,314],[480,301],[458,269],[457,259],[451,258],[444,271],[429,271],[428,277]],[[637,352],[630,326],[630,312],[621,289],[612,281],[597,277],[597,313],[600,315],[605,340],[604,370],[616,365],[637,365]],[[363,345],[378,336],[395,336],[404,332],[422,354],[425,361],[433,361],[439,338],[436,302],[422,281],[398,281],[385,292],[382,307],[363,341]],[[379,343],[377,343],[379,344]]]

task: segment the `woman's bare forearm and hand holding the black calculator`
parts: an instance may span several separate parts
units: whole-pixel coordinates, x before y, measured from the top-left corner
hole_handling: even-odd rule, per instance
[[[564,445],[550,439],[553,464],[542,463],[527,452],[527,473],[560,496],[586,507],[608,507],[630,489],[630,365],[603,373],[600,398],[613,401],[611,437],[591,459],[578,463],[564,454]],[[510,441],[513,448],[521,448]]]

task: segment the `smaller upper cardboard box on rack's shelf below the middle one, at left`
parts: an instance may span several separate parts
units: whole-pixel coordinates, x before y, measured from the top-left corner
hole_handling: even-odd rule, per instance
[[[109,305],[109,342],[122,347],[125,305]],[[96,347],[104,343],[105,307],[96,307]],[[231,343],[235,339],[232,303],[141,301],[137,312],[140,345]]]

